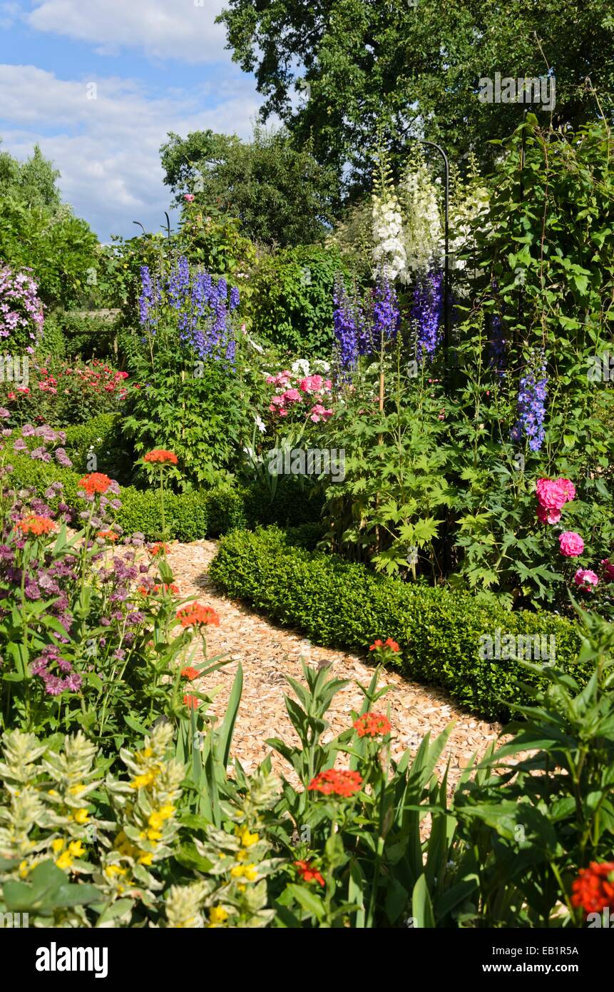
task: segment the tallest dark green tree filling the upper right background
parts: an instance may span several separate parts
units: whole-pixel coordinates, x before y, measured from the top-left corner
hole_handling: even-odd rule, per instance
[[[425,137],[490,163],[488,141],[507,137],[523,113],[480,102],[480,78],[497,71],[552,70],[555,127],[593,119],[597,99],[611,116],[610,0],[228,0],[219,19],[233,60],[256,73],[263,119],[279,115],[297,142],[312,135],[317,161],[334,165],[350,191],[369,186],[378,123],[393,162],[409,137]],[[550,123],[550,111],[532,109]]]

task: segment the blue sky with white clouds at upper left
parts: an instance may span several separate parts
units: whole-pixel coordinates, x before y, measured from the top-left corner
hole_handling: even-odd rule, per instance
[[[223,0],[0,0],[0,137],[35,143],[102,241],[156,230],[167,132],[251,134],[262,102],[214,24]]]

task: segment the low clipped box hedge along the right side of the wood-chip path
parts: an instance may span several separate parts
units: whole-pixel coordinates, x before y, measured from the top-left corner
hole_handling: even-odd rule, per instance
[[[310,543],[302,528],[300,544]],[[505,719],[502,700],[529,700],[518,680],[538,684],[516,660],[480,658],[480,636],[497,628],[513,635],[555,636],[555,666],[589,677],[576,662],[574,625],[552,613],[509,612],[467,592],[403,582],[363,564],[298,547],[277,528],[235,531],[223,538],[210,566],[216,585],[272,619],[292,625],[318,644],[366,650],[392,637],[402,651],[400,670],[417,682],[440,685],[462,705],[487,718]]]

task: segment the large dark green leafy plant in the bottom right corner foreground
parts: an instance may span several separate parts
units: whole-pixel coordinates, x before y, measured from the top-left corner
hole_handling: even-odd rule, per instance
[[[614,830],[613,628],[582,616],[578,663],[586,684],[556,669],[525,689],[512,735],[481,762],[454,799],[459,838],[480,852],[483,926],[545,927],[571,905],[579,867],[609,860]],[[529,678],[535,666],[523,665]],[[524,678],[527,681],[527,678]],[[544,684],[545,682],[545,684]],[[513,768],[507,765],[515,760]],[[471,855],[465,868],[470,870]]]

